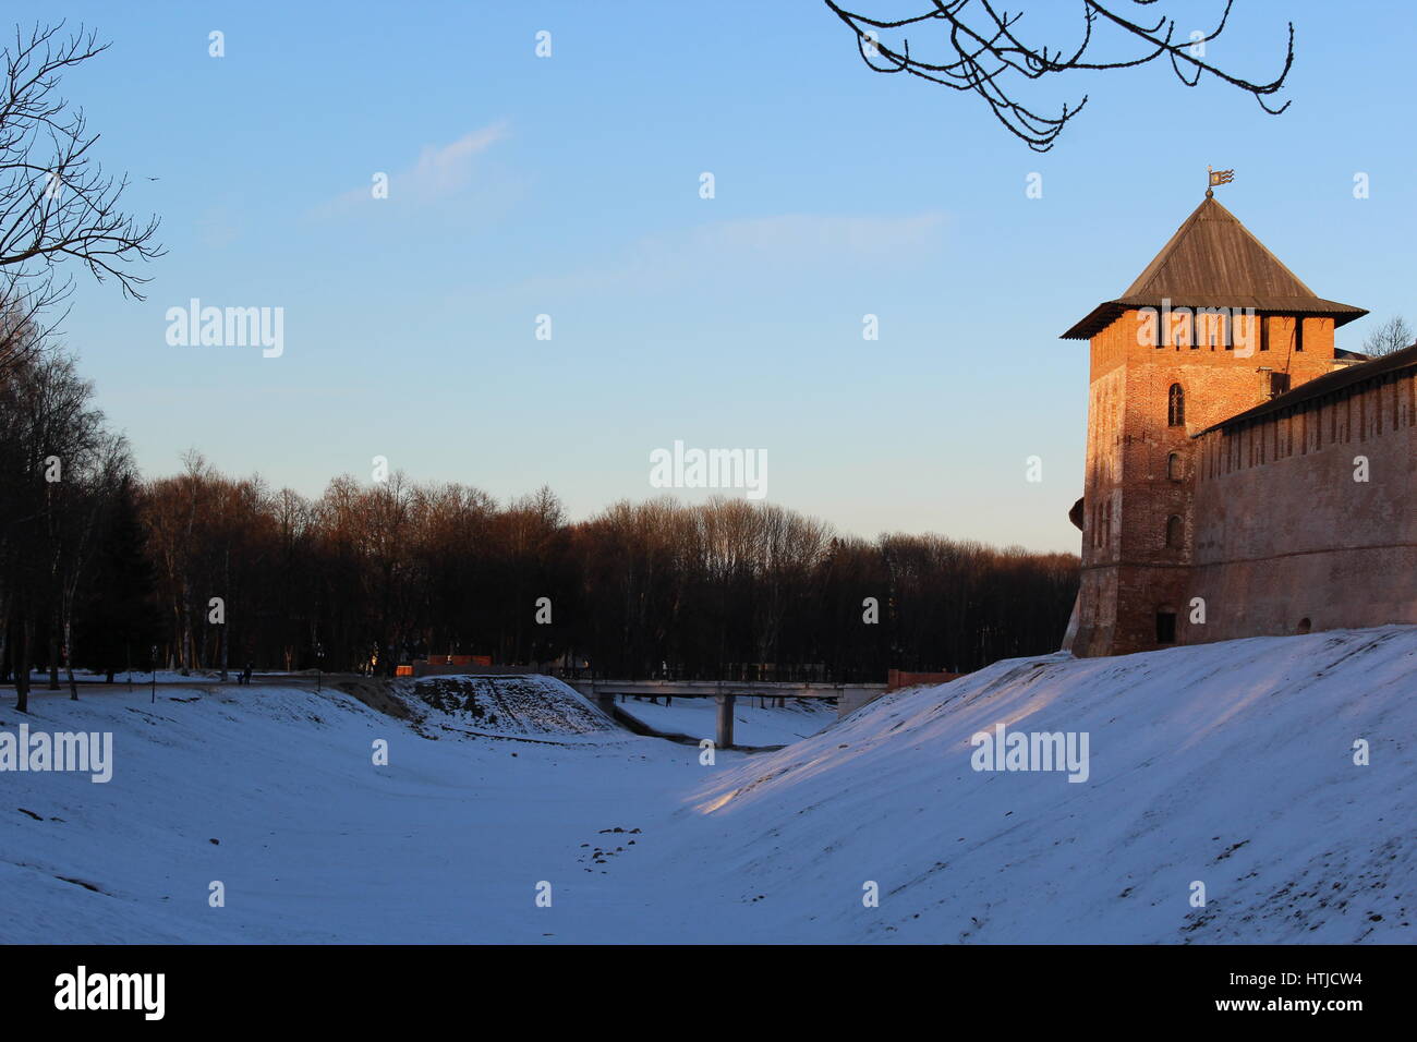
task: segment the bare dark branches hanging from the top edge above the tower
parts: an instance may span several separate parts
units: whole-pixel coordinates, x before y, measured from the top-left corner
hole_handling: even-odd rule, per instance
[[[1083,95],[1074,106],[1066,102],[1057,116],[1044,116],[1024,106],[1012,95],[1012,81],[1041,79],[1050,72],[1102,71],[1146,65],[1158,58],[1170,62],[1176,77],[1186,86],[1195,86],[1202,77],[1214,77],[1255,96],[1260,106],[1271,115],[1278,115],[1289,106],[1288,102],[1271,108],[1265,98],[1284,86],[1294,64],[1294,23],[1289,23],[1289,43],[1285,51],[1284,69],[1267,84],[1255,84],[1231,75],[1217,65],[1204,61],[1204,47],[1200,44],[1217,38],[1230,18],[1234,0],[1226,0],[1224,11],[1216,28],[1204,35],[1182,33],[1178,37],[1175,18],[1159,16],[1141,23],[1118,14],[1135,7],[1151,7],[1156,0],[1081,0],[1083,30],[1076,48],[1050,48],[1047,44],[1026,44],[1016,33],[1022,11],[999,11],[992,0],[928,0],[931,10],[908,18],[877,20],[854,11],[847,11],[835,0],[825,0],[846,26],[856,34],[862,60],[876,72],[905,72],[932,84],[955,91],[972,91],[989,105],[995,118],[1016,138],[1024,140],[1034,152],[1047,152],[1070,119],[1087,105]],[[1139,13],[1139,11],[1138,11]],[[1097,58],[1097,41],[1093,31],[1098,23],[1119,30],[1122,38],[1134,45],[1134,51],[1117,58]],[[935,30],[947,45],[941,61],[925,61],[911,54],[910,40],[898,45],[881,41],[883,31],[898,31],[913,26]]]

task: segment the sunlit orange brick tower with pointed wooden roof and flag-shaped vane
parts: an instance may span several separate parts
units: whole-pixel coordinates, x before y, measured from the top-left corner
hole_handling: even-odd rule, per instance
[[[1335,367],[1321,299],[1207,191],[1141,276],[1063,333],[1091,342],[1083,581],[1064,646],[1186,642],[1192,435]]]

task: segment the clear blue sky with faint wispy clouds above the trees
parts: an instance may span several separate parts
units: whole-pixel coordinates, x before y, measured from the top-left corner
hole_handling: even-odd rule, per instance
[[[1012,7],[1073,38],[1073,4]],[[1220,4],[1169,7],[1204,28],[1190,11]],[[1043,156],[971,95],[869,72],[816,0],[7,13],[113,41],[64,92],[170,252],[143,303],[81,276],[62,332],[146,474],[196,447],[315,495],[384,455],[499,498],[544,482],[585,517],[656,495],[649,454],[682,439],[765,449],[768,500],[847,532],[1073,550],[1087,346],[1057,336],[1132,281],[1207,164],[1315,292],[1417,318],[1414,16],[1237,7],[1207,57],[1268,79],[1292,18],[1287,113],[1163,65],[1061,78],[1027,96],[1091,99]],[[169,346],[194,296],[283,308],[283,356]]]

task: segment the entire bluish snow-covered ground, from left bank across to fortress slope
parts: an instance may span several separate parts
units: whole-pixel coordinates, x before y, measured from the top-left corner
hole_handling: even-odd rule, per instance
[[[0,703],[0,732],[115,736],[108,784],[0,773],[0,941],[1414,934],[1413,627],[1000,662],[713,766],[618,732],[563,741],[554,722],[395,720],[330,690],[147,698]],[[1085,733],[1087,780],[973,770],[971,736],[999,723]]]

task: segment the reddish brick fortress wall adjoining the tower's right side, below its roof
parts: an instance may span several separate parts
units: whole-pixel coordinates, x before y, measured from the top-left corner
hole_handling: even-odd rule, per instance
[[[1417,622],[1413,370],[1212,431],[1196,461],[1206,624],[1182,641]]]

